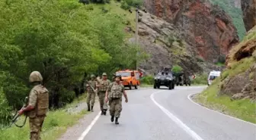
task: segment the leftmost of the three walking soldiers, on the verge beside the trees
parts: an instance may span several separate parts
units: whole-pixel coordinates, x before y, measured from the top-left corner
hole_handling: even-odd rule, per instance
[[[88,84],[90,84],[94,90],[97,90],[96,89],[97,88],[96,87],[97,81],[96,81],[95,76],[93,74],[91,74],[91,80],[88,81]],[[93,107],[94,107],[96,93],[94,92],[93,89],[91,89],[91,87],[88,84],[86,84],[86,89],[87,89],[87,106],[88,106],[88,111],[91,110],[91,112],[93,112]],[[90,106],[90,101],[91,101],[91,106]]]

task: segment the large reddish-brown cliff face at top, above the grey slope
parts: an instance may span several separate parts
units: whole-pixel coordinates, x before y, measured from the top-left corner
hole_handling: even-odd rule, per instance
[[[231,17],[200,0],[144,0],[147,11],[173,24],[196,56],[211,63],[238,43]]]

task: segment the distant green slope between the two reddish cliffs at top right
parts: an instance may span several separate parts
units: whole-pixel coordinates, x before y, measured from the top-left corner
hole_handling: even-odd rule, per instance
[[[231,17],[238,31],[239,39],[242,40],[245,36],[245,24],[242,20],[242,10],[235,8],[234,5],[230,4],[230,0],[210,0],[214,5],[219,5],[224,11],[226,11]]]

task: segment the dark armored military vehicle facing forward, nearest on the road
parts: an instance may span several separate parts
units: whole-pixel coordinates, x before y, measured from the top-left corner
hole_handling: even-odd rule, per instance
[[[154,89],[160,89],[160,86],[166,86],[170,90],[174,89],[175,78],[171,70],[159,70],[155,73]]]

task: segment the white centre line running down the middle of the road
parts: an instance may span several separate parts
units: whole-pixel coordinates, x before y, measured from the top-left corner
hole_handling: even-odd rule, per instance
[[[190,135],[194,140],[203,140],[199,135],[197,135],[196,132],[194,132],[192,129],[190,129],[188,126],[186,126],[181,120],[178,119],[178,117],[175,117],[174,114],[171,114],[165,107],[162,107],[162,105],[158,104],[158,102],[155,101],[154,95],[159,92],[165,92],[165,91],[158,91],[152,93],[150,95],[151,100],[171,119],[176,123],[178,126],[181,127],[181,129],[184,129],[185,132],[187,132],[188,135]]]

